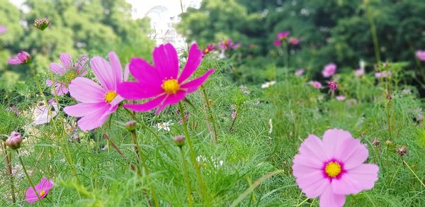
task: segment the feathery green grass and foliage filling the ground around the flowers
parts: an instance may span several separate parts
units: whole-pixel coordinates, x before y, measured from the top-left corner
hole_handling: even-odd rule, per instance
[[[367,162],[380,167],[375,187],[347,196],[346,206],[425,206],[425,186],[421,183],[425,174],[425,130],[415,119],[422,103],[414,88],[398,81],[403,77],[402,71],[393,69],[397,75],[380,80],[371,73],[363,77],[354,77],[352,72],[341,73],[337,93],[347,99],[337,101],[326,89],[310,86],[307,77],[290,75],[284,82],[283,68],[268,68],[268,73],[274,70],[281,81],[267,89],[261,89],[258,80],[263,77],[263,70],[253,72],[252,77],[258,79],[246,82],[249,91],[246,94],[234,84],[229,62],[207,59],[196,76],[211,67],[217,71],[204,84],[208,104],[202,90],[198,90],[188,96],[193,107],[187,103],[183,106],[189,115],[189,133],[212,206],[318,206],[317,199],[306,198],[301,193],[291,167],[302,140],[309,134],[321,137],[329,128],[350,131],[368,147]],[[140,176],[130,168],[129,162],[137,165],[137,155],[132,137],[124,127],[132,117],[123,108],[102,128],[89,133],[78,130],[77,142],[71,138],[75,119],[65,116],[63,111],[48,124],[30,124],[30,108],[42,101],[32,82],[28,80],[12,91],[4,91],[0,133],[8,135],[18,130],[24,135],[20,152],[33,183],[42,177],[55,181],[47,199],[43,199],[45,206],[148,206],[149,202],[153,203],[149,194],[151,185],[160,206],[188,205],[181,152],[173,140],[176,135],[184,135],[177,106],[167,108],[159,116],[137,113],[137,118],[154,131],[152,134],[137,125],[138,142],[149,169],[149,175]],[[392,86],[391,99],[386,95],[388,86]],[[43,91],[47,99],[53,98],[50,89],[46,87]],[[61,108],[74,103],[67,96],[58,101]],[[19,116],[8,110],[12,105],[21,111]],[[234,110],[237,110],[235,121],[231,116]],[[273,123],[271,133],[269,120]],[[170,131],[154,128],[165,121],[174,123]],[[214,126],[215,144],[211,141]],[[123,156],[115,151],[104,133]],[[380,145],[373,145],[374,140],[379,140]],[[400,145],[408,147],[407,156],[397,154]],[[187,143],[183,152],[194,204],[203,206]],[[30,206],[23,201],[29,184],[16,156],[13,152],[17,202],[11,203],[8,175],[1,160],[0,206]]]

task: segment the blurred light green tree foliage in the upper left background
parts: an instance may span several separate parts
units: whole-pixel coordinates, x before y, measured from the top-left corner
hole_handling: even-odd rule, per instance
[[[154,42],[147,36],[149,20],[133,20],[125,0],[28,0],[24,4],[26,13],[0,0],[0,25],[8,28],[0,35],[0,79],[5,82],[28,76],[26,66],[6,64],[21,50],[33,55],[38,72],[47,71],[62,52],[77,58],[83,53],[106,56],[114,50],[125,63],[134,56],[150,60]],[[49,18],[51,26],[40,32],[33,23],[42,17]]]

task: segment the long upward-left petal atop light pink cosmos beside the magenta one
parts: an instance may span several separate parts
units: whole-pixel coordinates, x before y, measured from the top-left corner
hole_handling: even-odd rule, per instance
[[[115,70],[102,57],[93,57],[90,61],[91,69],[93,69],[99,82],[103,88],[108,91],[117,90],[117,78]]]

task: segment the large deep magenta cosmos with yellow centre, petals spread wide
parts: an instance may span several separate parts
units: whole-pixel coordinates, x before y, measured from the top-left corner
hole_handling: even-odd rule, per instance
[[[171,44],[160,45],[154,50],[154,67],[148,62],[133,57],[130,72],[137,82],[123,82],[118,86],[118,94],[125,99],[151,99],[144,104],[124,104],[133,111],[150,111],[157,108],[156,113],[166,106],[177,104],[185,99],[186,94],[193,93],[214,72],[210,69],[202,76],[188,81],[202,60],[202,52],[193,44],[189,51],[188,62],[179,74],[179,57]]]

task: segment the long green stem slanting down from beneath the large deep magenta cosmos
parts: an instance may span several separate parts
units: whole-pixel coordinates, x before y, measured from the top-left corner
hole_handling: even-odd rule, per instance
[[[192,144],[191,136],[189,135],[189,131],[188,131],[188,123],[186,123],[186,118],[184,117],[184,109],[183,109],[183,106],[181,105],[181,102],[179,102],[179,110],[180,110],[181,118],[183,119],[183,129],[186,135],[186,140],[188,141],[188,145],[189,145],[191,162],[196,169],[196,178],[198,179],[199,189],[203,195],[205,206],[211,206],[210,199],[208,198],[207,192],[205,191],[205,184],[200,174],[200,166],[198,162],[196,161],[195,151],[193,151],[193,144]]]

